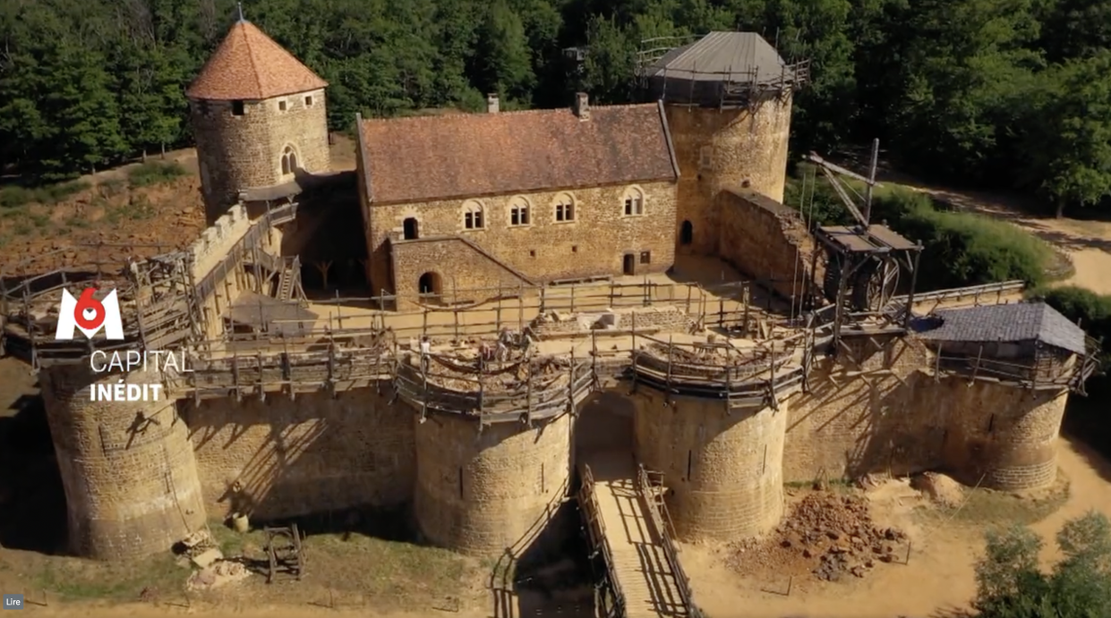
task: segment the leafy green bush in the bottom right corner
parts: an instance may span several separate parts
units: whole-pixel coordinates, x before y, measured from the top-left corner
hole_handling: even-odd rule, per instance
[[[1052,573],[1038,568],[1041,539],[1023,527],[988,535],[977,565],[981,618],[1091,618],[1111,616],[1111,524],[1101,513],[1072,519],[1058,533],[1064,559]]]

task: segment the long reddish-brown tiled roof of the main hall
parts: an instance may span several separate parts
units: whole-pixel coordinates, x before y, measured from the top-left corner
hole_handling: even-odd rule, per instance
[[[374,203],[674,181],[659,103],[364,120],[360,148]]]

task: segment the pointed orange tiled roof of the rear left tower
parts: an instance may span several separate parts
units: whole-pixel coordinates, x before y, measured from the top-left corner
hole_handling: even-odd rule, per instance
[[[210,101],[253,101],[327,85],[257,26],[240,20],[189,84],[186,95]]]

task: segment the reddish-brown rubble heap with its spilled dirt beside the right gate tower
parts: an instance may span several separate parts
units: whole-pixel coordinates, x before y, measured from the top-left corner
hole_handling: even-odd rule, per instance
[[[742,573],[770,569],[837,581],[847,575],[864,577],[878,563],[897,560],[897,547],[905,538],[901,530],[877,528],[864,498],[818,492],[794,505],[771,538],[742,544],[731,566]]]

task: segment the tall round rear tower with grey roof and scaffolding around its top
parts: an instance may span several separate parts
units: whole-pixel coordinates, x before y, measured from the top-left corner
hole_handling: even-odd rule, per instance
[[[782,202],[793,90],[807,64],[787,65],[754,32],[711,32],[652,58],[639,74],[662,101],[679,162],[679,251],[718,252],[714,205],[724,188]]]

